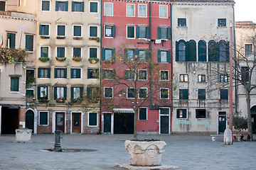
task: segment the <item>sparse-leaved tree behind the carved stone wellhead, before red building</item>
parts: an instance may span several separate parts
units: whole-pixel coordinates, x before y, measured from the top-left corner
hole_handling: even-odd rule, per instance
[[[153,55],[149,50],[134,50],[129,45],[122,44],[115,51],[112,60],[104,61],[102,69],[102,86],[112,88],[105,89],[104,97],[109,98],[102,100],[102,106],[108,111],[124,106],[133,109],[134,139],[137,139],[139,107],[168,102],[171,105],[171,100],[159,100],[160,96],[169,98],[170,73],[160,72],[159,65],[151,60]]]

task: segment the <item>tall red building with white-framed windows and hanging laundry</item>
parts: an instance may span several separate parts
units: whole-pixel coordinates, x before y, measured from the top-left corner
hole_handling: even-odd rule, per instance
[[[120,50],[122,44],[125,45]],[[119,60],[122,50],[125,57],[139,55],[152,62],[138,66],[137,78],[134,78],[129,74],[131,68]],[[133,133],[134,102],[141,105],[137,117],[138,133],[171,132],[171,85],[163,85],[171,81],[171,61],[171,6],[168,1],[102,1],[102,132]],[[113,73],[117,76],[106,77]],[[119,77],[137,79],[138,96],[131,93],[134,83],[132,87],[116,86],[113,79]],[[160,86],[156,88],[154,83]]]

